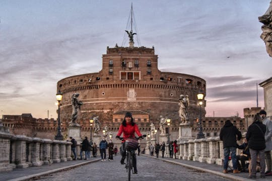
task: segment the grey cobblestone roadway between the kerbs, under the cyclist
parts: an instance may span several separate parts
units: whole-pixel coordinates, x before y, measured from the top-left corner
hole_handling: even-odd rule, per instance
[[[113,158],[113,161],[93,162],[74,169],[42,176],[38,180],[127,180],[127,172],[124,165],[120,164],[120,158],[117,155]],[[137,163],[138,174],[131,174],[131,180],[135,181],[229,180],[211,173],[189,169],[144,155],[137,156]]]

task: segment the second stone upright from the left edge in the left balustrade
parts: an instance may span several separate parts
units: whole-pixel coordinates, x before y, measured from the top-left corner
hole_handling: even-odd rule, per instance
[[[28,163],[26,163],[26,141],[28,137],[25,135],[16,135],[15,142],[15,164],[17,168],[26,168],[28,167]]]

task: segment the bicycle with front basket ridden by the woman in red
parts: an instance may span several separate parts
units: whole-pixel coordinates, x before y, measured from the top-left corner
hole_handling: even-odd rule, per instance
[[[142,135],[142,137],[146,137],[147,135]],[[119,137],[120,140],[123,141],[122,137]],[[125,157],[126,157],[126,162],[125,162],[125,168],[127,172],[127,177],[128,181],[130,181],[130,174],[132,170],[132,154],[136,149],[138,149],[138,140],[140,137],[135,137],[135,138],[128,138],[125,139]],[[136,155],[135,155],[136,156]]]

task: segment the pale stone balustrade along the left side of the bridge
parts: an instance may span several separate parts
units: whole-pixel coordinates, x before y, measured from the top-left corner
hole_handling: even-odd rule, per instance
[[[0,131],[0,172],[70,161],[73,159],[71,145],[70,141],[26,137]],[[80,144],[76,150],[80,158]]]

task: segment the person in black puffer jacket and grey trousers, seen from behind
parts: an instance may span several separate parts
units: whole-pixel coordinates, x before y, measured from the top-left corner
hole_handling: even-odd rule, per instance
[[[260,115],[256,114],[253,118],[253,123],[248,127],[246,133],[246,139],[248,141],[251,157],[251,173],[249,175],[250,178],[256,178],[257,156],[259,156],[260,160],[260,177],[265,177],[265,131],[266,126],[262,124]]]

